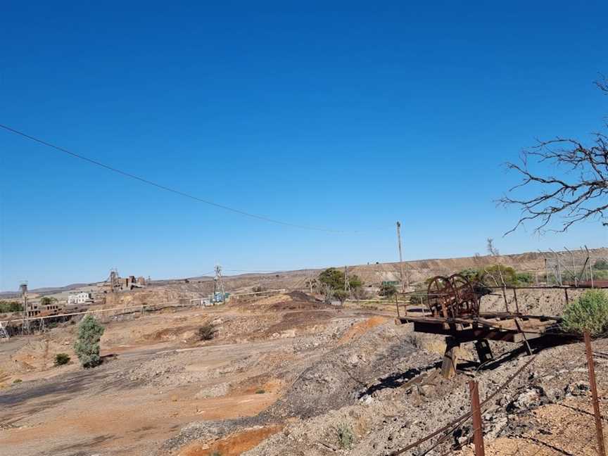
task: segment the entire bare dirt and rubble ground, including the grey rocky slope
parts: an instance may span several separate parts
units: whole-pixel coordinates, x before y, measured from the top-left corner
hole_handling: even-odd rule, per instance
[[[519,299],[545,315],[562,305]],[[498,391],[483,413],[486,454],[595,454],[580,341],[533,343],[533,362],[505,387],[531,360],[521,346],[492,343],[495,361],[480,366],[468,344],[446,380],[443,338],[393,317],[299,292],[134,314],[104,323],[94,369],[76,362],[75,324],[11,338],[0,345],[0,456],[386,456],[467,412],[470,379],[482,400]],[[208,323],[215,338],[201,341]],[[605,413],[608,341],[594,348]],[[57,353],[72,362],[56,367]],[[472,456],[470,439],[465,422],[405,454]]]

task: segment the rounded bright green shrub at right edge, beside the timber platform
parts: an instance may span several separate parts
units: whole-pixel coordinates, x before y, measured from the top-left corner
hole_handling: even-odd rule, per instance
[[[598,336],[608,329],[608,293],[604,290],[585,291],[566,307],[562,328]]]

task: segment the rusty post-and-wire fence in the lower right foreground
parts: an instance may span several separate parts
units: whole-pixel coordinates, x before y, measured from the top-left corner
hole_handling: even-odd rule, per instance
[[[386,453],[386,456],[607,456],[604,443],[604,427],[608,425],[608,419],[602,416],[601,407],[602,400],[604,401],[604,407],[608,405],[608,396],[597,391],[595,365],[597,360],[608,362],[608,353],[593,351],[588,334],[585,334],[584,340],[585,346],[581,353],[581,359],[585,360],[588,386],[581,383],[578,385],[580,390],[571,391],[572,397],[569,400],[548,403],[551,407],[557,407],[561,410],[559,414],[555,410],[547,410],[545,414],[535,414],[534,418],[539,423],[536,431],[535,429],[531,429],[529,432],[507,431],[503,436],[504,438],[498,439],[500,441],[492,441],[488,446],[483,441],[484,424],[483,419],[481,419],[490,407],[495,406],[493,400],[496,396],[499,393],[504,393],[514,380],[523,380],[523,386],[519,385],[519,388],[523,388],[538,384],[541,379],[555,377],[555,372],[548,372],[540,376],[538,372],[535,372],[534,376],[528,375],[528,377],[525,377],[528,368],[538,360],[538,355],[532,355],[504,383],[486,395],[481,403],[477,395],[479,391],[477,382],[474,380],[469,382],[469,398],[471,400],[471,410],[469,412],[455,417],[440,429],[436,429],[436,431],[403,448]],[[580,369],[582,367],[577,370]],[[470,429],[467,438],[464,438],[464,441],[457,442],[455,438],[457,431],[460,430],[460,434],[466,435],[462,432],[465,427]]]

